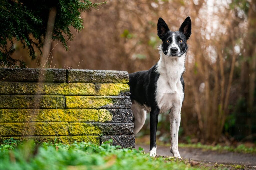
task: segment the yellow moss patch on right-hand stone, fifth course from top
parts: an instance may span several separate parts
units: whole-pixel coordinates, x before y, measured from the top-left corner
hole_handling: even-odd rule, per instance
[[[91,123],[69,123],[70,135],[101,135],[99,126]]]

